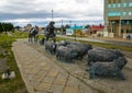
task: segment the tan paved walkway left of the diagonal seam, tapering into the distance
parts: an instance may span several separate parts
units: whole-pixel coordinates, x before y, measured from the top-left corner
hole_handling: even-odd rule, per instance
[[[12,50],[29,93],[99,92],[69,74],[22,40],[14,42]]]

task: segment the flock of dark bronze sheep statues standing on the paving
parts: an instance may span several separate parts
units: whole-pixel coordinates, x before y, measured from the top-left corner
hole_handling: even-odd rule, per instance
[[[56,59],[61,61],[81,61],[82,57],[87,56],[88,68],[86,70],[89,71],[89,79],[94,79],[96,75],[105,75],[125,80],[121,71],[128,61],[118,49],[94,48],[90,44],[72,40],[61,40],[57,43],[45,40],[43,44],[44,44],[45,50],[55,55]]]

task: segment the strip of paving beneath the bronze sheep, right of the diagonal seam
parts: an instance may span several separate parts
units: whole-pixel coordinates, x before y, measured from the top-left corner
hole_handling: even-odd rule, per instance
[[[86,84],[105,91],[106,93],[131,93],[132,89],[132,58],[127,56],[124,57],[128,59],[128,65],[122,70],[125,81],[122,81],[118,78],[96,78],[94,80],[89,80],[89,73],[86,70],[86,60],[75,61],[73,63],[66,63],[56,60],[54,55],[51,55],[44,50],[44,46],[40,46],[38,44],[30,44],[31,47],[47,56],[51,60],[55,61],[56,65],[68,71],[69,74],[76,77],[77,79],[81,80]],[[124,53],[123,53],[124,54]],[[128,54],[130,55],[130,53]],[[85,58],[84,58],[85,59]]]

